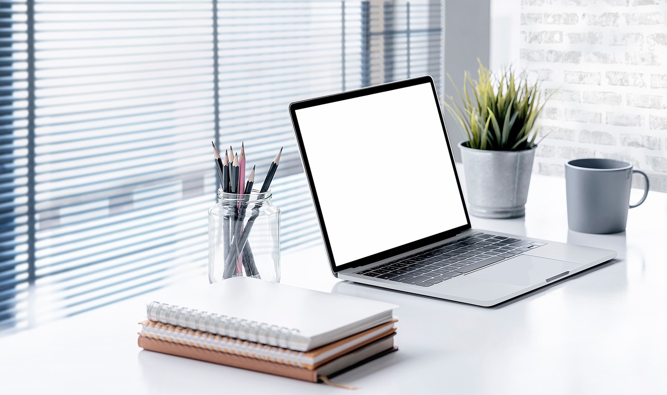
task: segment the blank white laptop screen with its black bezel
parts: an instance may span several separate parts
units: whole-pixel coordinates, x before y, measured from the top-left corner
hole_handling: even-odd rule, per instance
[[[468,225],[432,80],[421,81],[290,106],[334,271]]]

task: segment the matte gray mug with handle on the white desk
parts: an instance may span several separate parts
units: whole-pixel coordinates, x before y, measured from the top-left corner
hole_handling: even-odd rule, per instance
[[[632,173],[643,175],[646,187],[642,200],[631,205]],[[648,176],[624,161],[576,159],[565,165],[565,189],[571,230],[596,234],[623,232],[628,208],[646,200]]]

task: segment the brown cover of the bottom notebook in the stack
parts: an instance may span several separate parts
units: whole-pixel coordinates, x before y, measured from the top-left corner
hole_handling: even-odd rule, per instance
[[[345,364],[345,366],[340,366],[340,369],[337,369],[336,372],[331,372],[325,376],[333,376],[341,370],[349,370],[352,367],[370,362],[371,360],[396,350],[396,348],[394,348],[393,342],[393,336],[395,334],[396,332],[390,334],[389,336],[385,336],[380,340],[376,340],[376,342],[372,344],[366,344],[366,346],[361,346],[357,350],[352,350],[348,354],[340,356],[339,358],[348,358],[349,363]],[[387,342],[388,340],[391,340],[391,342]],[[387,343],[385,344],[384,342]],[[254,358],[247,358],[244,356],[225,354],[224,352],[205,350],[203,348],[197,348],[193,346],[183,346],[182,344],[164,342],[162,340],[153,340],[150,338],[144,338],[142,336],[139,336],[138,343],[139,347],[143,348],[144,350],[182,356],[185,358],[191,358],[205,362],[213,362],[214,364],[227,365],[235,368],[254,370],[255,372],[275,374],[276,376],[296,378],[309,382],[317,382],[317,376],[319,373],[318,369],[326,368],[327,364],[327,362],[324,362],[323,364],[317,366],[315,370],[308,370],[304,368],[297,368],[296,366],[276,364],[273,362],[256,360]],[[380,347],[382,349],[375,350],[374,347]],[[372,354],[367,355],[369,352]],[[358,356],[358,358],[354,358],[355,356]],[[336,361],[334,360],[329,362]]]

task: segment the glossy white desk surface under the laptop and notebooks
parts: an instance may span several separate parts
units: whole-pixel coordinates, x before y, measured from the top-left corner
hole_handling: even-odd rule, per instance
[[[667,393],[667,194],[651,192],[630,210],[626,233],[603,236],[568,231],[564,190],[564,179],[533,175],[526,218],[473,217],[473,226],[609,248],[618,258],[495,308],[340,282],[321,246],[283,254],[285,284],[400,306],[400,350],[335,381],[378,394]],[[205,278],[191,282],[207,285]],[[143,351],[136,323],[149,300],[139,296],[0,338],[1,392],[344,391]],[[103,317],[107,324],[93,332]]]

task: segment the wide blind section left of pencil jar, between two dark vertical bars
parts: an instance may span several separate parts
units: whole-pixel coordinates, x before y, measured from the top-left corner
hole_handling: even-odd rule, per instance
[[[11,324],[76,314],[158,288],[179,271],[201,272],[215,190],[204,143],[215,129],[211,2],[53,0],[11,9],[12,45],[27,53],[31,82],[13,88],[33,106],[28,124],[13,121],[20,145],[32,147],[13,151],[32,160],[27,188],[14,190],[28,196],[32,228],[27,246],[14,238],[27,253],[15,258]]]

